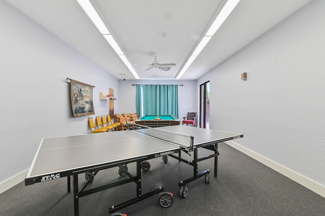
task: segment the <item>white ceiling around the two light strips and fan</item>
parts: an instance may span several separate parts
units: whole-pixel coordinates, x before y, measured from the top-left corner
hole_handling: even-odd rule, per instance
[[[115,78],[135,79],[77,0],[6,1]],[[197,80],[309,1],[241,0],[181,80]],[[93,0],[93,3],[140,79],[175,79],[225,1]],[[154,56],[158,56],[160,63],[176,66],[169,71],[146,70]]]

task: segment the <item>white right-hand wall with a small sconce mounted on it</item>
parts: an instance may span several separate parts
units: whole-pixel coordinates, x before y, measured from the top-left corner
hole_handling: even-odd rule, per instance
[[[311,1],[198,80],[211,82],[211,129],[243,133],[238,145],[322,186],[324,9]]]

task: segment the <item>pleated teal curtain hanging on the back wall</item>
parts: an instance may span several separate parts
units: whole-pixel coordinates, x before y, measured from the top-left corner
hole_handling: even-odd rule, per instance
[[[177,85],[137,85],[137,114],[178,117]]]

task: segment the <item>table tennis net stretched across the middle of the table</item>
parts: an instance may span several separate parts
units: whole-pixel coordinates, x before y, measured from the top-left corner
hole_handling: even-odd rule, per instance
[[[158,128],[146,127],[138,124],[135,125],[138,126],[139,128],[141,127],[141,129],[136,130],[137,132],[144,133],[146,135],[158,139],[162,139],[164,141],[172,142],[182,148],[193,150],[193,139],[194,139],[193,136],[186,136],[186,135],[159,130]]]

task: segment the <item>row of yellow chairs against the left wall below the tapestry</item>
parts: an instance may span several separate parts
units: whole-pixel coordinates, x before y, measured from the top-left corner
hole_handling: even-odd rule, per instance
[[[102,133],[113,130],[121,130],[121,123],[112,123],[110,115],[107,116],[96,116],[96,125],[92,117],[88,118],[88,123],[91,133]],[[97,126],[97,127],[96,127]]]

